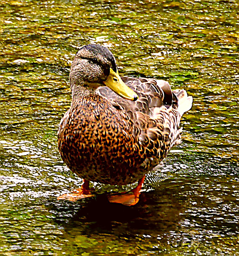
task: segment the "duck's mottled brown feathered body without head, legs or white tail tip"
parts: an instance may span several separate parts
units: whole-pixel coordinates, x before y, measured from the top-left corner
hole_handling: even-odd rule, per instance
[[[180,91],[172,92],[163,80],[122,80],[137,93],[137,101],[98,87],[94,93],[73,96],[59,125],[61,157],[86,180],[112,185],[138,181],[181,141]]]

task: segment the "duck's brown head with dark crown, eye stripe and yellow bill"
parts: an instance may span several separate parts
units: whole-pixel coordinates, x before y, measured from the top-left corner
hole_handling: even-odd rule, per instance
[[[124,99],[135,101],[137,94],[122,81],[109,49],[96,44],[81,47],[76,53],[70,71],[72,95],[84,90],[94,91],[99,86],[108,86]]]

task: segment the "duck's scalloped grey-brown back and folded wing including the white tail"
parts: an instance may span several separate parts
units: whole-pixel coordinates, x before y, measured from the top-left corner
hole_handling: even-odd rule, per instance
[[[149,155],[163,159],[173,145],[181,142],[179,123],[182,114],[192,107],[192,97],[185,90],[172,91],[164,80],[132,77],[122,80],[137,93],[138,100],[125,100],[108,87],[99,88],[99,93],[115,108],[124,110],[139,127],[139,141]]]

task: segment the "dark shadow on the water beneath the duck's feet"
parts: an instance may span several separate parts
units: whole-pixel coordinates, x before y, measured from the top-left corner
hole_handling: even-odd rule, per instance
[[[133,233],[173,230],[180,221],[183,205],[178,203],[177,194],[165,188],[142,192],[139,203],[131,207],[110,203],[106,195],[78,202],[55,200],[48,207],[54,212],[58,224],[66,229],[78,227],[89,234],[108,233],[120,227],[134,230]]]

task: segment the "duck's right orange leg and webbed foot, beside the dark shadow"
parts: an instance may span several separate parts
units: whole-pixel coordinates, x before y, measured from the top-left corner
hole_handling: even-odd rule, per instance
[[[145,175],[143,176],[143,178],[141,178],[138,181],[137,187],[135,187],[134,189],[132,189],[129,192],[109,195],[108,196],[109,202],[110,203],[121,203],[126,206],[135,205],[139,201],[140,190],[143,186],[144,179],[145,179]]]

